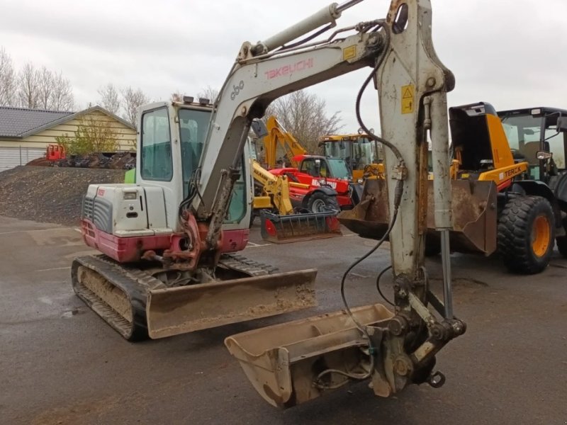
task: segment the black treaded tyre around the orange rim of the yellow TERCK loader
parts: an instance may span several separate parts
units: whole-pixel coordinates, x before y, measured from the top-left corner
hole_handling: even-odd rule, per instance
[[[498,251],[508,270],[522,274],[539,273],[543,267],[529,256],[531,249],[531,229],[529,229],[529,214],[541,202],[549,201],[541,196],[520,196],[507,202],[498,219]],[[551,213],[553,217],[553,212]],[[553,244],[553,241],[551,241]]]

